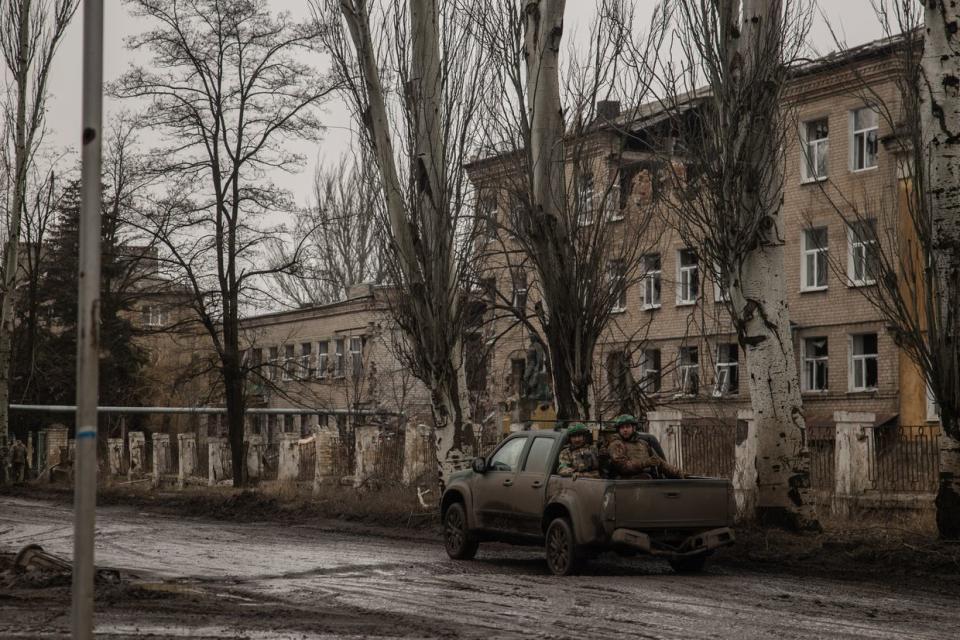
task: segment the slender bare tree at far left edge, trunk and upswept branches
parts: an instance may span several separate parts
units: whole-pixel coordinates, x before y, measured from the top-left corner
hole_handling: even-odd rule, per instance
[[[0,4],[0,51],[12,76],[3,105],[12,134],[12,193],[0,281],[0,432],[7,433],[14,287],[19,264],[20,226],[27,206],[27,174],[42,136],[50,65],[79,0],[4,0]]]

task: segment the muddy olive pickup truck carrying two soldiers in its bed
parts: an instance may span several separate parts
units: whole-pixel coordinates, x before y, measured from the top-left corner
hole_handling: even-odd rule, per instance
[[[729,480],[574,480],[556,475],[564,443],[559,431],[516,433],[453,474],[440,503],[447,554],[471,559],[484,541],[544,544],[556,575],[604,550],[662,556],[683,573],[733,543]]]

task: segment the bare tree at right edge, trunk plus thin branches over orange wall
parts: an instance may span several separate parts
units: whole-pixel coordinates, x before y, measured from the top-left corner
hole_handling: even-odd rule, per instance
[[[892,58],[894,91],[854,72],[850,92],[876,115],[898,184],[851,193],[822,184],[837,214],[863,246],[871,303],[923,376],[940,417],[937,527],[960,538],[960,10],[949,2],[876,0],[887,39],[873,45]],[[836,41],[841,44],[840,39]],[[873,142],[879,144],[880,140]],[[872,153],[876,154],[876,148]],[[869,150],[867,151],[869,153]],[[849,278],[846,261],[831,268]]]

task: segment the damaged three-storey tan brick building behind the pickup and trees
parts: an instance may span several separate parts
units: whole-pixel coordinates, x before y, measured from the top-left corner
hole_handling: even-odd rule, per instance
[[[878,424],[936,419],[922,377],[860,291],[874,284],[874,243],[899,242],[906,215],[899,203],[907,172],[885,144],[894,132],[874,110],[878,98],[896,108],[896,44],[870,43],[809,63],[795,70],[785,92],[797,135],[787,136],[785,150],[784,275],[804,407],[813,427],[831,424],[836,410],[868,411]],[[697,108],[695,98],[689,106]],[[607,115],[611,108],[616,109],[604,105]],[[737,411],[750,404],[740,374],[744,354],[723,293],[705,273],[709,265],[671,231],[669,213],[661,211],[664,223],[647,224],[640,235],[631,225],[657,206],[657,162],[663,156],[644,151],[643,140],[663,120],[658,109],[616,110],[614,118],[603,119],[582,145],[595,154],[587,163],[593,168],[586,179],[581,171],[570,180],[571,197],[592,202],[593,215],[622,227],[619,241],[637,242],[645,254],[598,345],[593,406],[597,417],[609,419],[624,406],[625,391],[640,386],[657,408],[679,409],[691,422],[735,421]],[[499,219],[515,215],[509,161],[499,155],[470,167],[481,209]],[[860,222],[841,218],[839,194],[856,203]],[[491,298],[512,300],[529,314],[537,297],[534,271],[515,258],[517,246],[509,237],[491,230],[482,242],[488,286],[496,287]],[[504,409],[505,422],[535,420],[537,409],[531,413],[518,402],[523,393],[518,379],[531,348],[527,331],[505,328],[508,318],[490,320],[495,326],[489,333],[502,334],[490,354],[490,397]]]

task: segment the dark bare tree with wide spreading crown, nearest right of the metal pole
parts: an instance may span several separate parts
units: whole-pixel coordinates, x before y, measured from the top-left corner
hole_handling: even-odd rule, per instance
[[[263,293],[263,278],[293,266],[266,265],[263,254],[279,230],[263,218],[290,207],[287,194],[264,174],[298,167],[302,159],[284,142],[315,140],[319,133],[314,107],[332,87],[304,56],[320,31],[288,14],[274,15],[264,0],[127,4],[156,25],[129,41],[133,50],[151,54],[153,66],[131,68],[110,91],[149,102],[141,120],[167,136],[152,161],[171,185],[170,197],[139,224],[156,238],[163,264],[188,292],[213,344],[234,484],[240,486],[246,401],[241,306]]]

